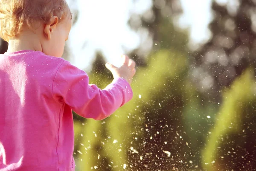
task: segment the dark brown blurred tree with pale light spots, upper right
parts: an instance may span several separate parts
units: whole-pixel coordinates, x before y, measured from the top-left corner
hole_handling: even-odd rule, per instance
[[[230,86],[249,65],[256,67],[256,1],[213,1],[212,12],[212,37],[194,52],[191,68],[198,90],[212,93],[218,101],[223,87]]]

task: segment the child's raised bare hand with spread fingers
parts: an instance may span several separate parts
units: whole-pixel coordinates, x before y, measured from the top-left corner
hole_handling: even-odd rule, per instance
[[[114,78],[124,78],[129,84],[131,84],[131,80],[136,73],[136,63],[126,55],[122,55],[122,60],[122,66],[119,68],[109,62],[106,64],[106,67],[112,72]]]

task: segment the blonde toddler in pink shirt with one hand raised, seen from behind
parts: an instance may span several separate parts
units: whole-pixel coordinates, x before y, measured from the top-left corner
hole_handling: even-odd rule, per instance
[[[133,96],[127,56],[106,64],[114,79],[104,90],[60,58],[71,18],[65,0],[0,0],[0,171],[74,171],[72,110],[101,120]]]

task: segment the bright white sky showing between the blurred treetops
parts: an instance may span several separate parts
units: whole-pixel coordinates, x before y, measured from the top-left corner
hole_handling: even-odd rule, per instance
[[[132,31],[127,22],[131,14],[143,14],[150,9],[152,0],[67,1],[71,10],[79,10],[78,21],[71,29],[67,43],[71,51],[70,60],[80,69],[90,70],[98,49],[106,61],[119,66],[120,55],[140,45],[141,35]],[[180,26],[190,28],[194,44],[207,40],[211,0],[181,0],[181,3],[184,14],[180,18]]]

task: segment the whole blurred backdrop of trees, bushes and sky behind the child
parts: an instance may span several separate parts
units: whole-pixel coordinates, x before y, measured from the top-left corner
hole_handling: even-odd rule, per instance
[[[63,58],[90,83],[111,83],[123,53],[137,62],[128,104],[74,113],[76,171],[256,170],[256,0],[67,2]]]

